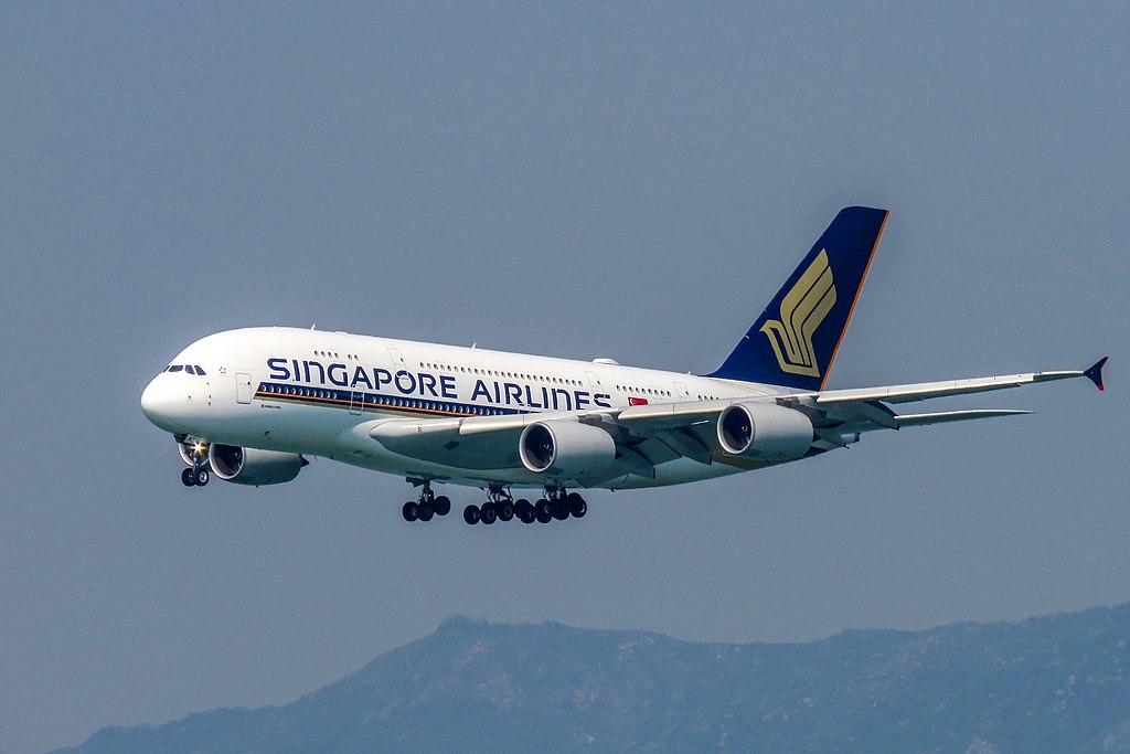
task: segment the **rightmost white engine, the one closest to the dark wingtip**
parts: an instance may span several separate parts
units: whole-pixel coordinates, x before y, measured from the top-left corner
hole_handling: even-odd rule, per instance
[[[791,461],[812,444],[812,422],[776,404],[733,404],[718,417],[718,441],[731,456]]]

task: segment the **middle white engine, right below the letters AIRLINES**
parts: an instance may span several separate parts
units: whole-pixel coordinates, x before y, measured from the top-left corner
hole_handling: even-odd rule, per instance
[[[600,474],[616,460],[616,442],[598,427],[580,422],[538,422],[518,442],[522,466],[534,474],[576,479]]]

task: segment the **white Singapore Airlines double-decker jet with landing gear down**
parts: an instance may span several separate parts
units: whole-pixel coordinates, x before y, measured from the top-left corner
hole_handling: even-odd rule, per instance
[[[705,375],[315,329],[209,335],[146,387],[141,410],[172,433],[181,480],[290,482],[323,457],[403,477],[406,521],[446,515],[434,484],[479,487],[467,523],[582,518],[577,488],[685,484],[846,448],[867,432],[1028,414],[898,414],[931,398],[1087,378],[1103,357],[1046,371],[825,389],[888,211],[842,209],[722,365]],[[541,491],[530,502],[512,489]]]

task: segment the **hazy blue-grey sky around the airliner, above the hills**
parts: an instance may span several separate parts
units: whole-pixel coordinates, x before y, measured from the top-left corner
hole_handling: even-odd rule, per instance
[[[285,702],[453,613],[798,641],[1130,599],[1128,50],[1125,3],[5,3],[0,752]],[[249,324],[710,371],[852,203],[893,215],[831,387],[1109,353],[1106,393],[473,529],[324,460],[186,489],[138,409]]]

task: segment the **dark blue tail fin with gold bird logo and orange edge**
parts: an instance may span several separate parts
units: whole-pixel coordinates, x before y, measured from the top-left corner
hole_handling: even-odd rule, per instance
[[[846,207],[707,376],[820,390],[847,331],[888,211]]]

